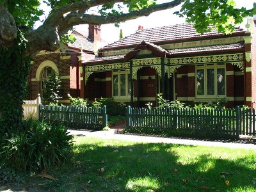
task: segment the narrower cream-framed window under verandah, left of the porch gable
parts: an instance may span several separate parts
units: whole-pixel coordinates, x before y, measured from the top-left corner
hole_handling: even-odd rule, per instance
[[[113,97],[127,98],[131,96],[130,76],[127,70],[116,70],[113,72]]]

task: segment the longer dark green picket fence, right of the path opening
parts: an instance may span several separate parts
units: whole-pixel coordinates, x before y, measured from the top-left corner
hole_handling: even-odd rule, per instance
[[[158,130],[194,136],[239,138],[255,136],[254,109],[131,108],[127,129]]]

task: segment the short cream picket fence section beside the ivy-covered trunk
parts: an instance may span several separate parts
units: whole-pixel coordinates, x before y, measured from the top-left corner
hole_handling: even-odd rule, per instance
[[[24,104],[22,104],[23,108],[23,118],[34,118],[38,120],[39,118],[39,105],[41,103],[40,94],[38,94],[37,99],[34,100],[23,100]]]

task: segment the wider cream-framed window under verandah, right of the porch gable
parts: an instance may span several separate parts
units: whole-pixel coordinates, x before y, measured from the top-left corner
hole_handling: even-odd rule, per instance
[[[196,66],[196,96],[216,97],[226,95],[225,64]]]

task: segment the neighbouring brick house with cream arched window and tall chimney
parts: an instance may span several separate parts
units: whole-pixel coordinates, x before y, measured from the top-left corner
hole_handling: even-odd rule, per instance
[[[74,44],[61,44],[56,52],[41,51],[31,61],[29,74],[29,97],[36,99],[40,93],[44,100],[44,81],[55,70],[61,79],[60,102],[68,103],[67,94],[79,97],[81,90],[80,69],[82,61],[91,60],[97,54],[97,47],[106,45],[100,38],[100,26],[89,25],[88,34],[72,31]],[[83,78],[82,78],[83,79]]]

